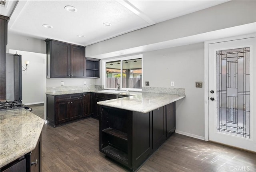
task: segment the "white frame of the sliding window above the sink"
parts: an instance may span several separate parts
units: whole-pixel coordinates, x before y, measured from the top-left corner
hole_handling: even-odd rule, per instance
[[[102,85],[104,85],[104,89],[116,89],[116,88],[106,88],[106,63],[110,62],[110,61],[120,61],[120,70],[121,70],[121,78],[122,78],[122,74],[123,74],[123,61],[126,60],[131,60],[131,59],[140,59],[141,58],[141,71],[142,71],[142,87],[143,85],[143,55],[142,54],[138,54],[138,55],[130,55],[130,56],[125,56],[125,57],[116,57],[116,58],[111,58],[111,59],[102,59]],[[122,87],[122,79],[121,79],[121,83],[120,83],[120,90],[128,90],[128,91],[142,91],[141,89],[137,89],[137,88],[123,88]]]

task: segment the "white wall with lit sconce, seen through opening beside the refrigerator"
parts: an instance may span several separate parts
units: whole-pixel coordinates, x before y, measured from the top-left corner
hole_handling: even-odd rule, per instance
[[[16,50],[9,52],[15,54]],[[25,61],[29,61],[27,70],[22,71],[22,103],[44,103],[45,54],[19,50],[17,53],[22,55],[23,67],[26,68]]]

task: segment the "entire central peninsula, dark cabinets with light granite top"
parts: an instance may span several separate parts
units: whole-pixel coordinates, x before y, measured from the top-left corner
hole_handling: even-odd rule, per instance
[[[185,95],[141,93],[100,101],[100,151],[136,171],[175,133],[175,102]]]

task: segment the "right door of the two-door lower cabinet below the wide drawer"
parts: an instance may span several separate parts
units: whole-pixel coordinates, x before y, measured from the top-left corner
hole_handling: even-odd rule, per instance
[[[70,100],[70,120],[78,119],[83,117],[83,100],[74,99]]]

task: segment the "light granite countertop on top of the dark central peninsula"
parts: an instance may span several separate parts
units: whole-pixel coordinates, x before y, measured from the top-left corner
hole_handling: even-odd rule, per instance
[[[119,109],[126,109],[129,111],[148,113],[154,109],[168,105],[169,103],[180,100],[184,97],[186,97],[186,95],[140,93],[130,97],[100,101],[97,104]]]

